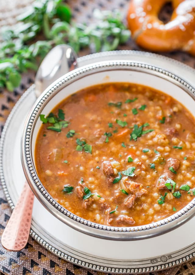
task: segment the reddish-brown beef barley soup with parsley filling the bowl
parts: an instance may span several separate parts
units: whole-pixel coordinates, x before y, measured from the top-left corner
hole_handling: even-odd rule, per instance
[[[84,219],[140,226],[174,214],[195,195],[195,120],[167,94],[101,84],[40,119],[38,176],[59,204]]]

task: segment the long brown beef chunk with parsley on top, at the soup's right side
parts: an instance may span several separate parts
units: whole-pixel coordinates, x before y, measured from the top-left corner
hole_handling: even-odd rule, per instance
[[[173,169],[177,172],[177,170],[179,169],[179,165],[180,165],[180,161],[178,159],[170,158],[167,160],[166,165],[165,165],[165,170],[157,182],[158,189],[166,188],[165,183],[166,183],[167,179],[174,178],[175,174],[172,171],[170,171],[169,168],[173,167]]]

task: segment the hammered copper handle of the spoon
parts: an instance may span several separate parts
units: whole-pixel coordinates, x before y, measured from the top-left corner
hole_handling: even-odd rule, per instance
[[[34,194],[25,181],[22,193],[2,234],[2,246],[9,251],[23,249],[28,241]]]

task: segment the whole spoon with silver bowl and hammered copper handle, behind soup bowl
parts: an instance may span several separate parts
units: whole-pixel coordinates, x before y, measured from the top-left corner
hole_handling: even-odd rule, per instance
[[[35,77],[35,94],[55,80],[77,68],[77,55],[68,45],[55,46],[43,59]],[[23,190],[2,234],[2,246],[9,251],[22,250],[28,241],[32,220],[34,193],[25,181]]]

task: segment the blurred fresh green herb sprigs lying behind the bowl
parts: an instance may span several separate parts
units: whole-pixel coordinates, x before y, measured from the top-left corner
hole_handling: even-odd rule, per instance
[[[94,10],[95,24],[71,22],[71,10],[62,0],[35,1],[18,23],[1,30],[0,87],[13,91],[21,73],[37,71],[41,60],[53,46],[67,43],[78,52],[90,47],[92,52],[115,50],[125,43],[130,31],[119,11]],[[41,37],[41,40],[37,40]]]

